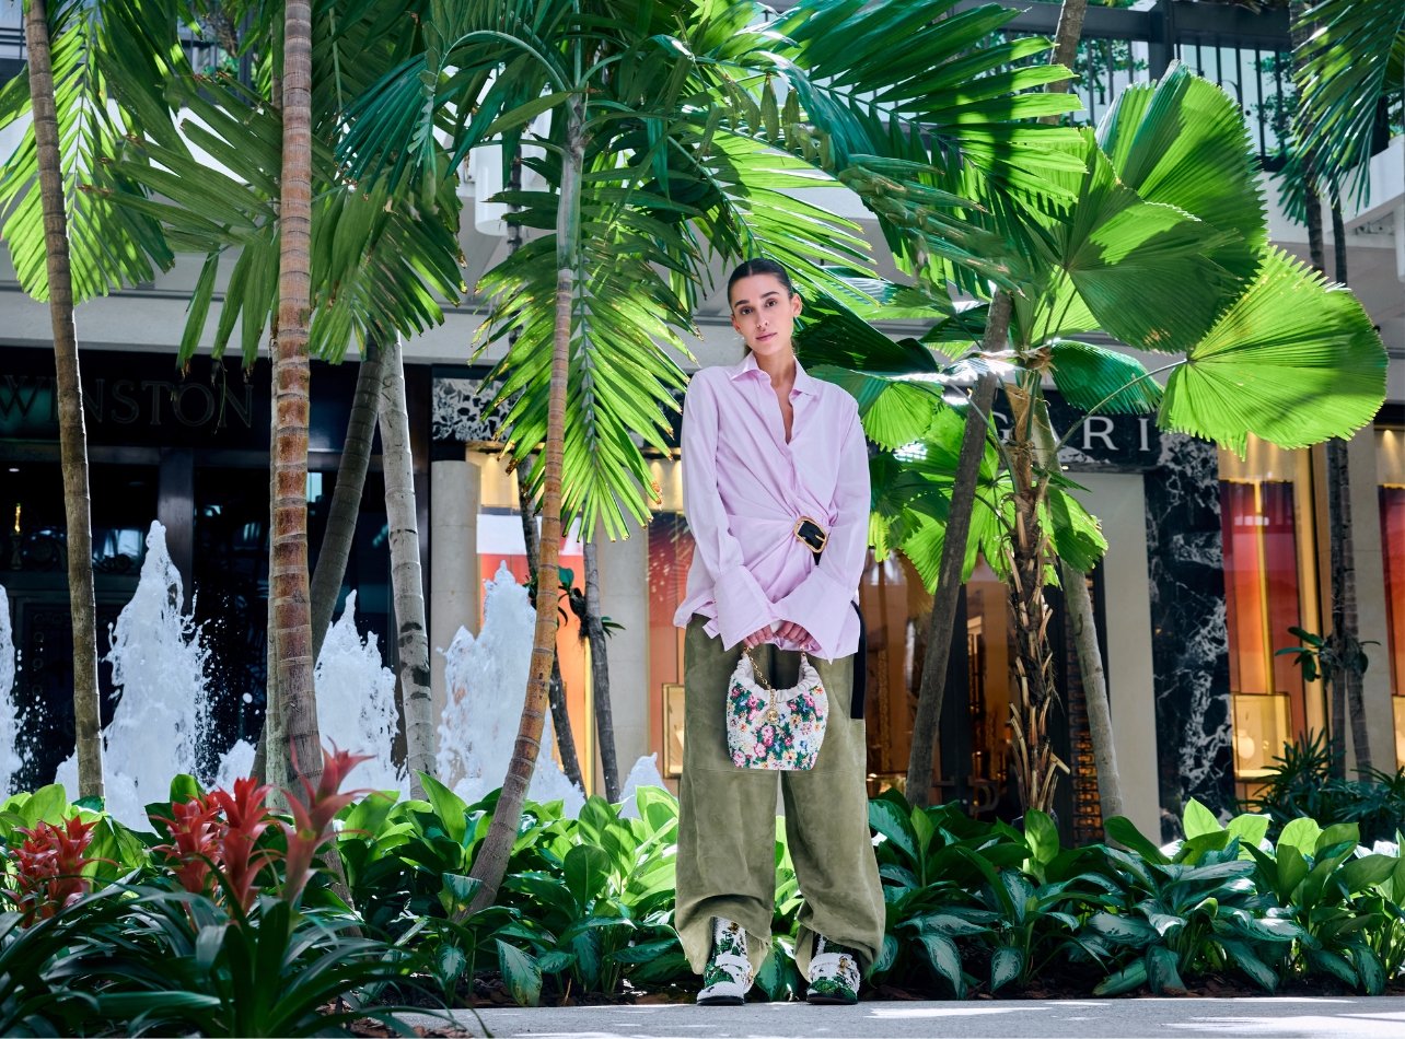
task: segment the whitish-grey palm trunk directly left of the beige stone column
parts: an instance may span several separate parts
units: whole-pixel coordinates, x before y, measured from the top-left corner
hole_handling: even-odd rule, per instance
[[[400,710],[410,796],[423,798],[420,774],[434,775],[434,705],[430,699],[430,643],[420,577],[420,531],[414,515],[414,462],[410,416],[405,403],[405,354],[399,337],[388,338],[381,369],[381,462],[385,517],[391,528],[391,590],[395,597],[396,656],[400,661]]]

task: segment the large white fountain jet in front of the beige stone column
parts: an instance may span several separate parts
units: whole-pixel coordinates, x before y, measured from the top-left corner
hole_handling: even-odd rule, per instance
[[[506,564],[486,583],[483,629],[475,639],[459,628],[444,653],[444,685],[448,702],[438,727],[436,771],[445,785],[473,803],[502,785],[517,740],[527,671],[537,626],[537,612],[527,588],[517,583]],[[532,800],[565,802],[575,819],[586,795],[566,779],[551,754],[555,747],[551,716],[541,733],[528,796]]]

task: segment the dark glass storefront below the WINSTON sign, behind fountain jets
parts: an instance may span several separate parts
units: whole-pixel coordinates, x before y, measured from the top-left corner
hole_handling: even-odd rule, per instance
[[[21,782],[49,782],[72,751],[72,628],[59,469],[53,354],[0,347],[0,585],[10,600],[18,657],[15,701],[27,712],[28,767]],[[236,359],[197,357],[181,375],[173,354],[84,351],[97,642],[136,588],[152,521],[181,573],[184,607],[209,647],[216,706],[211,761],[236,739],[257,739],[266,684],[268,597],[267,361],[244,373]],[[416,456],[427,489],[429,371],[406,372]],[[315,364],[308,477],[309,546],[316,549],[336,486],[355,364]],[[378,463],[367,477],[343,588],[357,591],[362,632],[393,654],[389,557]],[[422,498],[427,514],[429,500]],[[340,611],[341,604],[339,604]],[[392,661],[388,661],[393,664]],[[115,706],[100,668],[104,720]]]

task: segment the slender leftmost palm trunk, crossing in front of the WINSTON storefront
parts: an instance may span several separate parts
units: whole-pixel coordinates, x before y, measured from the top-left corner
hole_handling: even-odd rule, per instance
[[[44,254],[49,282],[49,320],[59,404],[59,458],[67,525],[69,616],[73,625],[73,729],[79,760],[79,796],[103,796],[101,702],[97,688],[97,612],[93,600],[93,517],[89,498],[87,430],[79,343],[73,324],[73,275],[69,267],[59,121],[53,98],[49,21],[44,0],[30,0],[24,38],[30,59],[30,98],[38,152]]]

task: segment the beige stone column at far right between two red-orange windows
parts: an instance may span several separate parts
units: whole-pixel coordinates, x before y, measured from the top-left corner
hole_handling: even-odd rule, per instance
[[[1356,637],[1375,640],[1366,647],[1370,667],[1361,688],[1366,732],[1370,733],[1371,764],[1394,772],[1395,710],[1391,701],[1390,629],[1385,614],[1385,557],[1381,548],[1381,503],[1375,475],[1375,428],[1367,425],[1347,446],[1352,476],[1352,541],[1356,555]],[[1354,775],[1356,748],[1347,723],[1347,775]]]

